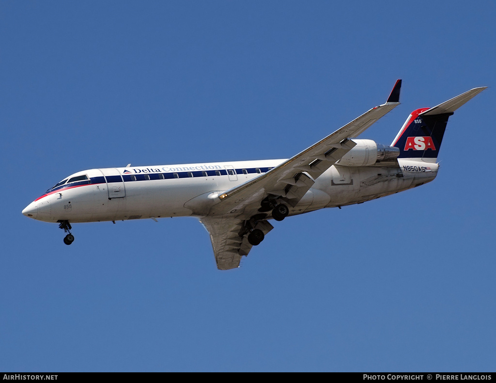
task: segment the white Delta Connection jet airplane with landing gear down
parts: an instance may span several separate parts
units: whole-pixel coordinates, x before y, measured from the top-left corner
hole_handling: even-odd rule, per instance
[[[83,170],[22,214],[58,223],[67,245],[74,223],[196,217],[210,234],[217,268],[234,269],[274,228],[269,220],[341,209],[434,180],[448,117],[486,88],[414,110],[389,146],[357,139],[400,104],[398,79],[384,104],[289,159]]]

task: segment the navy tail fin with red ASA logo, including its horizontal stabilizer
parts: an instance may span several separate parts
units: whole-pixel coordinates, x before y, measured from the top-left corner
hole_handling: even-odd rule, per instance
[[[433,108],[414,110],[391,144],[400,150],[398,158],[422,158],[435,162],[449,116],[486,88],[474,88]]]

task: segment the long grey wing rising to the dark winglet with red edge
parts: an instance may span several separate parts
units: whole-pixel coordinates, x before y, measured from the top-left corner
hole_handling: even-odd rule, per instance
[[[356,144],[351,138],[358,137],[399,105],[400,88],[401,80],[397,80],[385,104],[372,108],[267,173],[220,194],[218,198],[221,201],[212,207],[209,216],[235,211],[236,216],[247,219],[247,216],[256,214],[254,212],[260,207],[260,202],[268,195],[282,197],[289,205],[296,206],[315,179],[353,149]],[[241,213],[243,216],[240,216]]]

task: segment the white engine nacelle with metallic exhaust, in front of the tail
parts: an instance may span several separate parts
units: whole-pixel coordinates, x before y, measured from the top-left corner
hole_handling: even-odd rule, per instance
[[[338,165],[343,166],[371,166],[376,162],[390,161],[400,155],[400,150],[382,144],[376,144],[373,140],[351,140],[357,145],[346,153]]]

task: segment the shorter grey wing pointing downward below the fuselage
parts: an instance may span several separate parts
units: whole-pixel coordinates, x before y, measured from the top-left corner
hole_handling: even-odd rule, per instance
[[[203,217],[200,222],[210,234],[217,268],[229,270],[239,267],[241,257],[248,255],[253,247],[248,243],[246,236],[240,236],[245,221],[231,217]],[[273,226],[267,221],[260,221],[255,229],[267,234]]]

